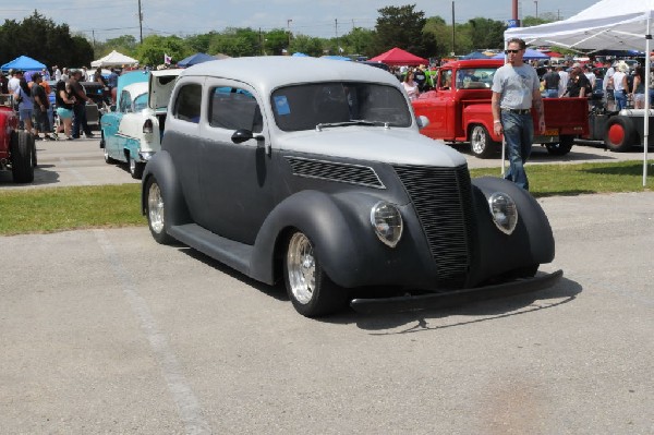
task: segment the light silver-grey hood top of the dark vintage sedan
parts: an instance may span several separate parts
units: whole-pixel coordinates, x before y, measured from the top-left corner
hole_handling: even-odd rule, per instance
[[[457,167],[465,157],[413,129],[339,126],[322,131],[283,133],[274,148],[283,152],[322,154],[328,158],[374,160],[395,165]]]

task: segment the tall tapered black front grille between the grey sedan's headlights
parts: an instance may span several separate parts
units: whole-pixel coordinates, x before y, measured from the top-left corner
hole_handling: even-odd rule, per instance
[[[468,166],[393,166],[420,219],[441,286],[461,286],[470,268],[474,219]]]

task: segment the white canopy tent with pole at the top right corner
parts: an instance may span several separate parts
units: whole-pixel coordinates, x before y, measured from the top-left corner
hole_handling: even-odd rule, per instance
[[[528,45],[559,46],[584,50],[644,51],[645,77],[650,76],[650,41],[654,0],[601,0],[568,20],[505,32],[505,40],[521,38]],[[649,84],[649,81],[647,81]],[[650,93],[645,92],[645,107]],[[651,110],[645,110],[643,134],[643,186],[647,181],[647,143]]]

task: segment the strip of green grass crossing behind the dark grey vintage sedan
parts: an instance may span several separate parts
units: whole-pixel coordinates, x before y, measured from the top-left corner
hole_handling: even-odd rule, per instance
[[[652,161],[647,188],[642,186],[642,161],[528,165],[526,171],[536,197],[643,192],[654,185]],[[499,177],[499,169],[472,169],[471,174]],[[140,204],[140,184],[0,190],[0,234],[145,226]]]

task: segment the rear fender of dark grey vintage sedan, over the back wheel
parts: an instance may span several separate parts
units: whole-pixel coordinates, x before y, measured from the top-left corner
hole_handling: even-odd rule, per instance
[[[161,189],[166,204],[167,227],[191,222],[191,214],[184,200],[182,185],[168,152],[155,154],[145,166],[141,183],[141,213],[145,215],[147,210],[146,188],[152,178],[157,180],[159,189]]]

